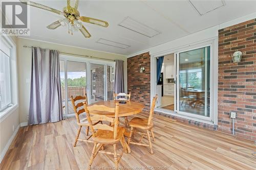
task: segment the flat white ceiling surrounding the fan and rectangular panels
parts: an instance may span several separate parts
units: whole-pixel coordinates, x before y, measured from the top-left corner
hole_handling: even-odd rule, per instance
[[[66,6],[66,1],[35,2],[58,10]],[[198,5],[200,1],[196,3]],[[209,4],[212,3],[213,1]],[[224,3],[225,6],[200,15],[189,1],[80,1],[78,10],[81,16],[109,22],[108,28],[84,23],[92,35],[91,38],[84,38],[80,32],[75,32],[73,36],[69,35],[68,29],[62,26],[56,30],[49,30],[46,26],[60,19],[61,16],[31,8],[31,35],[26,38],[130,55],[256,11],[256,1],[225,1]],[[205,5],[207,3],[204,2],[203,6]],[[210,7],[205,9],[208,10]],[[126,17],[131,17],[160,34],[147,37],[118,26]],[[100,38],[126,44],[129,47],[123,49],[96,43]]]

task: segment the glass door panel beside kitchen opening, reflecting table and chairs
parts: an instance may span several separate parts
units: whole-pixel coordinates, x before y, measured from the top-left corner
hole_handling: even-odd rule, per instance
[[[179,53],[179,111],[209,117],[210,46]]]

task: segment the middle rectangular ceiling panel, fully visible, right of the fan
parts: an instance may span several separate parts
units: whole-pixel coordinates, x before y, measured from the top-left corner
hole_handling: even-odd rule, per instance
[[[119,23],[119,26],[145,35],[147,37],[154,37],[160,34],[160,32],[150,27],[147,27],[146,25],[143,25],[142,23],[132,19],[131,17],[126,17],[121,23]]]

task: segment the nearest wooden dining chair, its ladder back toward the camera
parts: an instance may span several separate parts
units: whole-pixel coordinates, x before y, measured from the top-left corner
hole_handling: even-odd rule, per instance
[[[98,153],[108,154],[108,155],[114,155],[114,163],[115,168],[118,167],[118,162],[121,160],[123,152],[126,151],[126,141],[124,139],[123,133],[125,131],[124,127],[119,126],[119,104],[116,103],[115,108],[106,107],[104,105],[93,105],[88,106],[86,103],[84,103],[84,110],[86,110],[86,115],[88,118],[88,122],[90,124],[90,129],[92,131],[92,140],[94,142],[94,147],[92,151],[92,155],[89,162],[88,169],[91,168],[93,159],[96,157]],[[94,115],[91,116],[91,112],[109,112],[109,113],[115,113],[115,117],[111,118],[106,115]],[[108,121],[112,124],[112,126],[109,125],[102,125],[102,124],[96,124],[94,125],[93,121]],[[97,129],[97,131],[95,131]],[[120,142],[123,150],[121,153],[117,153],[116,144]],[[102,150],[103,145],[105,144],[111,144],[113,145],[114,152],[106,152]],[[117,158],[119,156],[119,158]]]

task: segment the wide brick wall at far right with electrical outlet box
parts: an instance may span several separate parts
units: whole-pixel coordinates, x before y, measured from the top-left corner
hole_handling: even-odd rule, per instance
[[[242,60],[233,63],[236,50]],[[256,140],[256,19],[219,30],[218,88],[218,130],[231,133],[235,111],[236,136]]]

